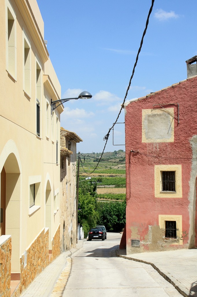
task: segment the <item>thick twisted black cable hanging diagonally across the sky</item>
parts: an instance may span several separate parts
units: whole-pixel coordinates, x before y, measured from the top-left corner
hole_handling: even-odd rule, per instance
[[[126,97],[127,97],[127,94],[128,94],[129,88],[130,88],[130,85],[131,85],[131,80],[132,80],[133,75],[134,75],[134,72],[135,72],[135,67],[136,67],[136,65],[137,65],[138,57],[139,57],[140,51],[141,51],[141,49],[142,49],[142,44],[143,44],[144,36],[145,36],[145,34],[146,34],[146,30],[147,30],[147,28],[148,28],[148,22],[149,22],[150,14],[151,14],[151,12],[152,12],[152,10],[153,10],[153,4],[154,4],[154,1],[155,1],[155,0],[152,0],[152,4],[151,4],[150,10],[149,10],[149,12],[148,12],[148,17],[147,17],[147,20],[146,20],[146,26],[145,26],[144,32],[143,32],[143,34],[142,34],[142,39],[141,39],[141,42],[140,42],[140,47],[139,47],[139,50],[138,50],[138,52],[137,52],[137,56],[136,56],[136,60],[135,60],[135,64],[134,64],[134,67],[133,67],[133,71],[132,71],[131,78],[130,78],[130,80],[129,80],[129,86],[128,86],[127,90],[126,90],[126,94],[125,94],[125,97],[124,97],[124,101],[123,101],[123,103],[122,103],[121,109],[120,109],[120,111],[119,111],[119,113],[118,113],[118,116],[117,116],[117,118],[116,118],[116,121],[113,123],[113,126],[109,129],[108,133],[107,133],[107,134],[105,135],[105,137],[103,138],[103,140],[106,140],[106,141],[105,141],[105,145],[104,145],[104,148],[103,148],[101,157],[100,157],[100,159],[99,159],[99,161],[98,161],[98,163],[97,163],[95,169],[94,169],[91,173],[93,173],[93,172],[97,169],[97,167],[98,167],[98,165],[99,165],[99,163],[100,163],[100,160],[101,160],[101,158],[102,158],[102,155],[103,155],[103,153],[104,153],[104,151],[105,151],[105,147],[106,147],[106,144],[107,144],[107,142],[108,142],[108,138],[109,138],[110,131],[111,131],[111,129],[113,129],[113,127],[114,127],[115,124],[117,123],[118,118],[119,118],[119,116],[120,116],[120,114],[121,114],[121,111],[122,111],[122,109],[123,109],[124,102],[125,102],[125,100],[126,100]],[[84,168],[83,168],[83,169],[84,169]],[[85,171],[85,170],[84,170],[84,171]],[[85,171],[85,172],[86,172],[86,171]],[[86,173],[87,173],[87,172],[86,172]],[[91,174],[91,173],[87,173],[87,174]]]

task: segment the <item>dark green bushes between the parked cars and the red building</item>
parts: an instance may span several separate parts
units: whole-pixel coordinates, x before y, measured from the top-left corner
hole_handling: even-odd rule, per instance
[[[108,231],[118,232],[124,228],[126,223],[126,201],[124,202],[98,202],[97,207],[100,213],[100,224],[104,225]]]

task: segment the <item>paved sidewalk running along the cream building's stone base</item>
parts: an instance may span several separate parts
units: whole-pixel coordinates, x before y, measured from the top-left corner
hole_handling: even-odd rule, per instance
[[[69,277],[71,270],[71,255],[82,247],[84,240],[78,240],[75,248],[60,254],[49,266],[47,266],[41,274],[39,274],[33,282],[27,287],[20,297],[49,297],[59,296],[53,291],[57,281],[59,281],[60,275],[64,274]],[[66,271],[66,268],[67,271]],[[65,272],[66,271],[66,272]],[[67,278],[68,279],[68,278]],[[67,279],[64,278],[61,286],[65,286]],[[53,293],[52,293],[53,291]]]

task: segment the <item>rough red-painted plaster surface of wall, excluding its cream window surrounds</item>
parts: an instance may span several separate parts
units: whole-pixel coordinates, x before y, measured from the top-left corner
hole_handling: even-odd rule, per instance
[[[153,104],[177,102],[180,105],[180,123],[174,118],[174,142],[142,143],[142,109],[152,109]],[[165,106],[169,107],[174,107],[174,115],[177,116],[177,105]],[[197,134],[197,77],[131,102],[125,109],[127,254],[193,247],[195,235],[191,224],[195,224],[195,214],[193,219],[192,211],[189,212],[188,208],[190,205],[195,211],[196,206],[196,201],[189,200],[189,192],[193,191],[193,182],[196,182],[196,178],[190,181],[193,158],[190,139]],[[139,150],[140,153],[134,154],[130,150]],[[182,165],[182,198],[155,198],[154,165],[167,164]],[[193,197],[195,200],[196,189]],[[158,234],[159,214],[182,215],[183,245],[167,245],[162,241],[161,234]],[[155,242],[152,244],[147,244],[149,225],[155,230],[152,234]],[[137,234],[140,236],[140,249],[131,248],[131,239],[136,238]],[[143,241],[146,243],[143,244]]]

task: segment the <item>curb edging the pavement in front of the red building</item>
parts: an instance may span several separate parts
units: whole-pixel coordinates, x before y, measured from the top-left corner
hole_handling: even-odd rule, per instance
[[[148,265],[151,265],[164,279],[166,279],[170,284],[172,284],[175,289],[184,297],[190,297],[190,290],[186,289],[185,287],[183,287],[181,285],[181,283],[179,281],[177,281],[177,279],[175,279],[172,275],[170,277],[168,277],[163,271],[161,271],[155,264],[151,263],[151,262],[147,262],[145,260],[141,260],[141,259],[137,259],[137,258],[132,258],[132,257],[127,257],[124,255],[120,255],[119,254],[119,249],[116,249],[116,256],[120,257],[120,258],[124,258],[127,260],[132,260],[132,261],[136,261],[136,262],[141,262],[141,263],[145,263]]]

